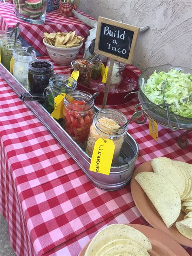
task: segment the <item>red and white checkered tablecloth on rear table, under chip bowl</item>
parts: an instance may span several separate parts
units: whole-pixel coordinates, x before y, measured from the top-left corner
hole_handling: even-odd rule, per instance
[[[86,17],[92,19],[92,17],[82,13]],[[79,19],[74,17],[64,17],[60,15],[58,10],[53,10],[49,13],[46,13],[45,23],[41,25],[31,24],[20,19],[17,19],[14,13],[13,4],[7,3],[5,5],[3,2],[0,2],[0,30],[8,30],[13,28],[17,22],[20,22],[19,27],[21,28],[21,36],[36,49],[42,55],[47,55],[47,50],[43,44],[43,33],[56,33],[56,32],[70,32],[76,31],[78,36],[82,36],[85,39],[87,38],[90,27],[85,25]],[[85,42],[85,40],[84,40]],[[80,49],[80,53],[83,53],[83,47]]]

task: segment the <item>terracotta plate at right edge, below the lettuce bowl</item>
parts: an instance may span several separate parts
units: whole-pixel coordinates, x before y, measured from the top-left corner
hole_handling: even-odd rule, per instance
[[[143,191],[139,183],[137,183],[137,181],[134,179],[134,177],[138,173],[152,172],[152,171],[153,169],[151,167],[151,162],[147,161],[141,164],[133,173],[133,176],[131,179],[131,194],[132,194],[134,203],[137,206],[137,209],[139,210],[143,218],[147,220],[147,222],[149,222],[149,224],[152,227],[166,233],[181,245],[186,245],[188,247],[191,247],[192,240],[181,235],[181,233],[179,233],[179,231],[175,227],[175,224],[173,224],[171,228],[166,227],[158,211],[156,210],[154,205],[151,203],[151,201],[149,200],[149,198],[147,197],[147,195],[145,194],[145,192]],[[183,211],[181,211],[176,221],[183,220],[185,215],[186,214],[183,213]]]

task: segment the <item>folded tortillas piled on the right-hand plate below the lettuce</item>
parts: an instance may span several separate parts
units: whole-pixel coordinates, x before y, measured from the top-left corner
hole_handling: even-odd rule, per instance
[[[154,173],[142,172],[135,179],[167,228],[177,220],[181,209],[187,214],[175,226],[182,235],[192,239],[192,165],[160,157],[151,160],[151,166]]]

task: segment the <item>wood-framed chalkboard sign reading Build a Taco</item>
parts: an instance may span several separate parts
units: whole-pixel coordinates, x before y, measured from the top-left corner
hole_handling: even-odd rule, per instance
[[[138,34],[138,27],[99,17],[94,52],[132,64]]]

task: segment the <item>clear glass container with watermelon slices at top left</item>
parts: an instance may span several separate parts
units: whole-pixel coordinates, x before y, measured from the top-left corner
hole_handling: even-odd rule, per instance
[[[47,0],[21,1],[13,0],[15,16],[34,24],[43,24],[47,9]]]

